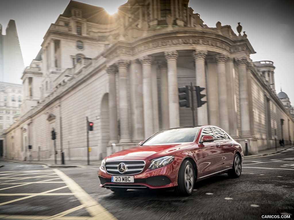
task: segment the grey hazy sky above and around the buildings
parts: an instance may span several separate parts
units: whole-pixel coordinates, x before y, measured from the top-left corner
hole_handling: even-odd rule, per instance
[[[100,6],[108,13],[115,13],[127,0],[77,0]],[[5,34],[10,19],[15,20],[25,66],[29,66],[41,49],[43,37],[51,23],[63,13],[69,0],[0,0],[0,24]],[[240,22],[255,54],[253,61],[274,62],[275,89],[282,88],[294,105],[294,13],[290,0],[190,0],[189,7],[208,27]]]

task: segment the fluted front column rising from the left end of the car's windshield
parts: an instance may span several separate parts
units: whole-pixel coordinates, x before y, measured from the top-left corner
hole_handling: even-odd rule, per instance
[[[153,131],[153,109],[152,109],[152,81],[151,81],[151,56],[139,59],[143,69],[143,107],[144,107],[144,135],[151,136]]]

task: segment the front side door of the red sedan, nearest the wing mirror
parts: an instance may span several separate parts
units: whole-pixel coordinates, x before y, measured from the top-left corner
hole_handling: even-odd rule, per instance
[[[214,137],[210,126],[207,126],[202,130],[200,141],[202,141],[202,138],[205,135]],[[223,168],[221,157],[222,151],[218,141],[203,143],[200,146],[202,161],[200,162],[198,168],[200,169],[201,177],[221,171]]]

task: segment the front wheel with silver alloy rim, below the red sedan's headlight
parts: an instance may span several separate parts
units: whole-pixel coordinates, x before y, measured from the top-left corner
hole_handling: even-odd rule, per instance
[[[181,196],[191,195],[194,188],[195,172],[192,163],[184,160],[178,173],[178,186],[175,192]]]

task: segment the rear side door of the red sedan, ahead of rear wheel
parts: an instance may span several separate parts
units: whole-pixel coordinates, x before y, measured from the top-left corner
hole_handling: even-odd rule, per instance
[[[213,127],[213,132],[218,140],[222,150],[222,166],[223,170],[229,169],[233,166],[234,159],[234,145],[231,138],[220,128]]]

